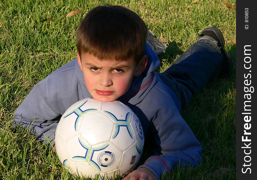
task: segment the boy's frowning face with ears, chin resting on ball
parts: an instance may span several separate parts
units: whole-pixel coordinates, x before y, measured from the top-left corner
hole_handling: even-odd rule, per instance
[[[78,63],[84,75],[86,88],[99,101],[115,101],[124,95],[134,76],[139,76],[147,64],[144,55],[136,65],[133,58],[126,61],[99,60],[88,53],[78,54]]]

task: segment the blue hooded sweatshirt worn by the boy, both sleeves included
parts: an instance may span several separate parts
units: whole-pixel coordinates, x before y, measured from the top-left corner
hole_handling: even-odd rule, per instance
[[[201,145],[180,115],[180,103],[154,72],[160,61],[146,44],[148,56],[144,72],[134,77],[128,91],[118,100],[128,105],[141,121],[145,146],[153,152],[143,165],[158,179],[179,164],[196,166],[201,162]],[[38,82],[15,111],[14,125],[32,129],[39,140],[54,140],[60,116],[89,94],[77,58]]]

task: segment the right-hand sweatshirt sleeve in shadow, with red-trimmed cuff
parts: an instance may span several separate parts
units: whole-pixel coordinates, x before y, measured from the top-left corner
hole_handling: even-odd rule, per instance
[[[140,166],[153,171],[158,179],[179,165],[188,167],[201,163],[201,144],[177,108],[167,109],[159,110],[156,119],[150,124],[148,133],[153,135],[155,155]],[[164,114],[168,114],[168,117],[165,118]]]

